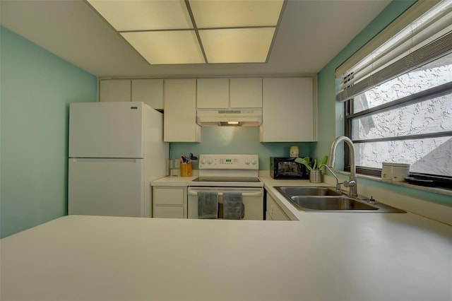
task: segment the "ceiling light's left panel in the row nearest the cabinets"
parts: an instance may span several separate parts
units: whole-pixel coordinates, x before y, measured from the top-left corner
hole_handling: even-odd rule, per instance
[[[203,64],[194,30],[121,33],[149,64]]]

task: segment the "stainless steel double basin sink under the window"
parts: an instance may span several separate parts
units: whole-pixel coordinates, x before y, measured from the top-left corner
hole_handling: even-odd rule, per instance
[[[275,187],[299,211],[406,213],[368,199],[354,198],[328,187]]]

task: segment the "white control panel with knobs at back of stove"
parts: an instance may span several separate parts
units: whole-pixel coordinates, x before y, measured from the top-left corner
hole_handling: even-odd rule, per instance
[[[258,170],[258,155],[199,155],[199,166],[201,169],[215,170]]]

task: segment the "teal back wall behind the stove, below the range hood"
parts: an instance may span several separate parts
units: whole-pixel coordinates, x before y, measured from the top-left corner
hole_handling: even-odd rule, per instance
[[[290,146],[298,146],[299,155],[311,156],[314,143],[261,143],[258,127],[204,126],[201,128],[201,143],[170,143],[169,149],[172,151],[173,160],[181,154],[189,153],[258,154],[259,170],[269,170],[270,156],[289,157]],[[194,161],[194,168],[198,168],[197,161]]]

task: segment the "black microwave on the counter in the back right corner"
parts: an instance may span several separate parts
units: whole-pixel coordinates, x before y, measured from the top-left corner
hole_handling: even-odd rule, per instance
[[[309,170],[295,159],[270,157],[270,176],[273,179],[309,179]]]

